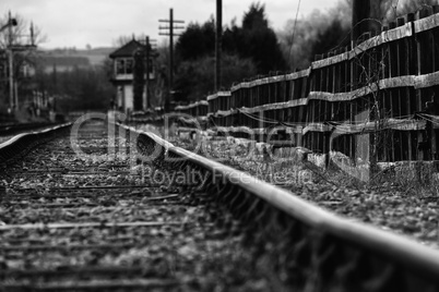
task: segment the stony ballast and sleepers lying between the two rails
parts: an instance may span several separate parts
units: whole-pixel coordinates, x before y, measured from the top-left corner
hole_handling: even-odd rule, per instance
[[[142,178],[103,123],[76,141],[96,157],[82,159],[63,135],[2,169],[0,290],[213,291],[263,279],[238,224],[215,223],[218,211],[195,202],[198,185]]]

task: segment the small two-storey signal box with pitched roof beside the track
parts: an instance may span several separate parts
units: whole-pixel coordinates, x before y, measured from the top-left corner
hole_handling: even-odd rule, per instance
[[[116,109],[129,114],[133,111],[134,93],[133,93],[133,66],[134,66],[134,52],[138,49],[145,49],[145,45],[132,39],[122,47],[115,50],[109,54],[112,60],[114,73],[111,83],[116,87]],[[146,63],[146,60],[145,60]],[[145,64],[146,68],[146,64]],[[150,59],[149,65],[150,81],[154,80],[154,68]],[[146,80],[146,74],[145,77]],[[146,86],[146,85],[145,85]],[[143,108],[146,104],[146,88],[143,90]]]

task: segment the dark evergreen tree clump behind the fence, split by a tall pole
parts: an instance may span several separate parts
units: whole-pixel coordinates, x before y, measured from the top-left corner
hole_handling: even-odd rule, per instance
[[[181,101],[203,98],[213,90],[214,52],[213,17],[203,25],[190,24],[182,33],[176,45],[175,82]],[[252,4],[245,13],[241,27],[233,22],[230,27],[224,29],[223,56],[223,86],[226,88],[242,78],[287,68],[277,37],[269,27],[265,7],[260,3]],[[234,80],[229,76],[234,76]]]

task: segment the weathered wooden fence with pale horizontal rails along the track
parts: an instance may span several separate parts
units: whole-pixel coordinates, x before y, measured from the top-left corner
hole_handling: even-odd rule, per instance
[[[209,96],[210,126],[352,158],[439,159],[438,12],[430,7],[400,17],[317,56],[306,70]]]

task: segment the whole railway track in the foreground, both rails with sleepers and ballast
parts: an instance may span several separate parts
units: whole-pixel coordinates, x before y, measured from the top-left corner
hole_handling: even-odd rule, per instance
[[[2,145],[0,290],[439,290],[436,251],[111,126]]]

